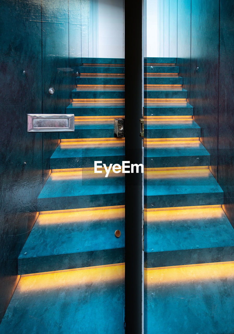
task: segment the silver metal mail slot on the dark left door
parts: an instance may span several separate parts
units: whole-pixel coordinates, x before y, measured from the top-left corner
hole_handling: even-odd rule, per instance
[[[74,114],[28,114],[28,132],[75,131]]]

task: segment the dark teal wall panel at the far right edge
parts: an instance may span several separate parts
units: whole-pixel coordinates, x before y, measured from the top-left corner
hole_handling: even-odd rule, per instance
[[[234,6],[220,1],[219,149],[218,181],[224,210],[234,226]]]

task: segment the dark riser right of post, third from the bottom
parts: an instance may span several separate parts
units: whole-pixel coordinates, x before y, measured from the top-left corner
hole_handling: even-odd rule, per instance
[[[145,157],[146,168],[209,166],[210,156]]]

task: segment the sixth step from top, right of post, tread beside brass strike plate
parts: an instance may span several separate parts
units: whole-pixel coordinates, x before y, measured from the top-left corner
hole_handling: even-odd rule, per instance
[[[201,137],[201,128],[192,119],[147,119],[144,133],[146,138],[193,138]]]

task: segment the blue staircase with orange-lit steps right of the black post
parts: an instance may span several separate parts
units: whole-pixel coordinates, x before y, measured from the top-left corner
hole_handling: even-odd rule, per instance
[[[144,333],[234,332],[234,231],[175,58],[144,64]]]

